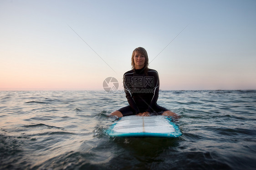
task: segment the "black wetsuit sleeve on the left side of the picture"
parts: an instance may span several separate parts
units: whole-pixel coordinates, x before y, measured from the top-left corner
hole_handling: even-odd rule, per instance
[[[139,109],[138,106],[136,105],[135,101],[133,100],[132,97],[132,92],[131,92],[131,85],[129,84],[129,82],[127,81],[129,77],[126,77],[125,75],[123,75],[123,88],[124,88],[124,92],[125,92],[125,96],[127,98],[127,101],[129,103],[129,105],[131,106],[132,110],[135,112],[135,114],[139,113]]]

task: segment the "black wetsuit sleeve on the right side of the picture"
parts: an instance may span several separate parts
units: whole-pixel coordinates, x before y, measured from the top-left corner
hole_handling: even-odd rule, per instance
[[[153,113],[155,112],[154,108],[157,108],[157,100],[158,100],[158,96],[159,96],[159,76],[158,73],[155,72],[154,74],[154,96],[150,102],[150,105],[148,106],[148,109],[146,111]]]

